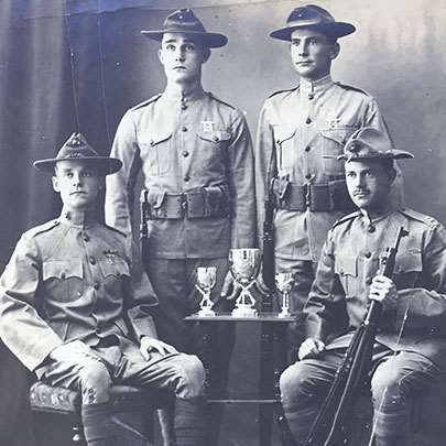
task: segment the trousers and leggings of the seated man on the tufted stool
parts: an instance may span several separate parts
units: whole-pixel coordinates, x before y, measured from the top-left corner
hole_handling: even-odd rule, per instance
[[[51,360],[39,374],[51,385],[80,392],[83,425],[89,446],[111,446],[117,442],[108,405],[112,384],[171,392],[175,396],[177,446],[205,445],[205,372],[197,357],[152,352],[145,361],[139,347],[122,338],[119,344],[106,347],[87,346],[79,340],[67,346],[65,357]]]

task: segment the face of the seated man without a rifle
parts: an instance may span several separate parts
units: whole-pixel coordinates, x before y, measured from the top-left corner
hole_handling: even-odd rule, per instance
[[[97,205],[104,178],[81,161],[59,161],[53,176],[53,188],[61,194],[64,206],[86,210]]]

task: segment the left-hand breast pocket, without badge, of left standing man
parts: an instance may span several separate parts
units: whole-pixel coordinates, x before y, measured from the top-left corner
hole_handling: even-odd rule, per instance
[[[139,137],[141,159],[149,175],[163,176],[172,171],[172,134],[159,129]]]

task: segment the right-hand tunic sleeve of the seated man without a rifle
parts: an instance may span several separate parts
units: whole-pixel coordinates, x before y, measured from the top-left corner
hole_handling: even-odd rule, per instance
[[[128,320],[137,339],[142,336],[156,338],[152,313],[157,305],[157,298],[143,269],[137,243],[131,237],[128,239],[129,255],[131,257],[131,290],[126,303]]]

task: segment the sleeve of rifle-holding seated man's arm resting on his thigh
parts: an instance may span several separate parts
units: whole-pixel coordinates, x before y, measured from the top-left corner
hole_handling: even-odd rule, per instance
[[[331,232],[324,243],[315,281],[304,307],[306,336],[326,341],[346,328],[348,320],[342,285],[335,273]]]

